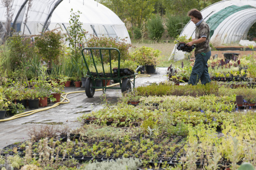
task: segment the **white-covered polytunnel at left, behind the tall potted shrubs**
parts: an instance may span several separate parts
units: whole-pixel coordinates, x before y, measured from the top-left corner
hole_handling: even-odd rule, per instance
[[[38,35],[46,30],[61,27],[64,32],[69,25],[70,10],[80,11],[82,28],[90,35],[113,37],[117,41],[130,37],[125,23],[104,5],[92,0],[32,0],[28,11],[29,0],[13,0],[11,25],[16,33]],[[25,22],[28,14],[27,22]],[[24,25],[25,23],[25,25]],[[6,7],[0,3],[0,36],[3,39],[7,30]]]

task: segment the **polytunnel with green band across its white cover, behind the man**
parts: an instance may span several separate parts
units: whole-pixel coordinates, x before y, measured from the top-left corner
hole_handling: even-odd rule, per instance
[[[248,31],[256,22],[256,0],[224,0],[201,11],[204,21],[210,28],[210,41],[223,44],[239,43],[246,40]],[[195,38],[196,26],[188,22],[180,36]],[[176,45],[170,56],[174,60],[184,59],[185,52],[178,51]]]

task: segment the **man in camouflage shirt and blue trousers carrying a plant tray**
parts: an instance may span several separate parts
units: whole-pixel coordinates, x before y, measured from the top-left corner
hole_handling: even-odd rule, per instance
[[[193,9],[188,12],[191,21],[196,24],[196,39],[188,42],[186,45],[192,46],[196,44],[195,56],[196,61],[192,69],[189,84],[196,85],[201,80],[202,84],[210,82],[208,73],[207,61],[210,59],[210,29],[209,26],[202,20],[200,11]]]

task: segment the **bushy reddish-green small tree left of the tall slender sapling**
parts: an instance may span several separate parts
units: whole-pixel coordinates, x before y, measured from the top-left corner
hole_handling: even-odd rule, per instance
[[[48,67],[51,68],[52,61],[56,60],[61,51],[62,35],[60,31],[52,30],[43,33],[36,38],[36,46],[39,54],[43,59],[49,62]]]

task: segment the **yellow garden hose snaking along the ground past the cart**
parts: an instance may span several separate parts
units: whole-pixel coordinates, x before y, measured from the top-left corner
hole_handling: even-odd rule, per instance
[[[139,75],[136,75],[135,78],[138,78],[138,77],[150,77],[151,75],[149,74],[139,74]],[[131,79],[131,81],[133,81],[133,79]],[[107,86],[107,87],[113,87],[113,86],[117,86],[119,83],[115,83],[115,84],[111,84],[110,86]],[[100,91],[102,89],[97,89],[95,91]],[[17,119],[17,118],[21,118],[21,117],[25,117],[25,116],[30,116],[30,115],[33,115],[33,114],[36,114],[37,112],[40,112],[40,111],[45,111],[45,110],[48,110],[48,109],[51,109],[51,108],[55,108],[57,106],[59,106],[60,104],[65,104],[65,103],[69,103],[69,99],[67,99],[67,95],[71,94],[71,93],[81,93],[81,92],[85,92],[84,90],[83,91],[71,91],[71,92],[66,92],[66,93],[63,93],[61,94],[61,97],[63,97],[63,100],[61,100],[60,102],[57,102],[55,103],[54,105],[52,106],[49,106],[49,107],[46,107],[46,108],[41,108],[41,109],[36,109],[36,110],[30,110],[30,111],[25,111],[21,114],[17,114],[17,115],[14,115],[10,118],[7,118],[7,119],[0,119],[0,122],[2,121],[8,121],[8,120],[14,120],[14,119]],[[65,95],[65,96],[63,96]],[[67,101],[65,101],[67,100]]]

